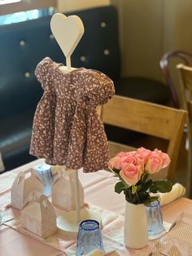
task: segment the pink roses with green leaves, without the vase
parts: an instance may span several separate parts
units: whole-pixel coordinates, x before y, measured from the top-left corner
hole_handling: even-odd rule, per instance
[[[120,181],[116,183],[115,191],[124,192],[125,199],[132,204],[150,205],[158,200],[159,196],[151,193],[170,192],[172,183],[168,179],[151,179],[151,174],[158,173],[170,163],[168,154],[158,149],[151,151],[146,148],[137,148],[132,152],[120,152],[109,161],[109,169]]]

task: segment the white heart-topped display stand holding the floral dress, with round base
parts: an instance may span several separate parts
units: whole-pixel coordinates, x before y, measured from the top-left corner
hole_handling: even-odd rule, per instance
[[[84,25],[81,19],[76,15],[66,17],[61,13],[56,13],[50,20],[50,29],[66,57],[67,65],[66,67],[61,66],[60,69],[63,73],[69,73],[74,69],[71,67],[71,55],[78,42],[81,40],[84,33]],[[81,223],[82,220],[88,218],[96,219],[98,223],[101,223],[101,218],[98,214],[95,214],[90,210],[80,209],[78,170],[68,171],[75,171],[76,210],[60,215],[57,218],[57,226],[59,232],[65,235],[68,234],[69,236],[76,236],[79,229],[79,223]]]

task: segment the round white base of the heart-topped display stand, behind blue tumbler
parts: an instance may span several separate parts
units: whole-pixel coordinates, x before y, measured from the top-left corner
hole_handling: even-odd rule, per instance
[[[98,214],[95,214],[91,210],[81,210],[81,218],[80,222],[85,219],[95,219],[98,221],[100,227],[102,227],[102,219]],[[66,213],[63,213],[62,215],[59,215],[57,218],[57,228],[58,232],[67,237],[76,238],[78,230],[79,230],[79,224],[76,222],[76,211],[72,210]]]

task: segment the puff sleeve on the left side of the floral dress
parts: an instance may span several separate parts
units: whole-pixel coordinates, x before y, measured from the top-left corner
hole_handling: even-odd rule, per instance
[[[45,86],[47,86],[50,83],[50,67],[52,63],[53,61],[50,60],[49,57],[46,57],[43,60],[41,60],[39,64],[37,64],[37,67],[35,69],[35,75],[37,77],[38,82],[41,83],[43,89],[45,89]]]

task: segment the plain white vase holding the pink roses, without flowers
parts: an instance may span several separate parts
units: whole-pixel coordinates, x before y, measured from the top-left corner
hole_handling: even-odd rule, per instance
[[[148,245],[146,206],[126,201],[124,215],[124,245],[140,249]]]

